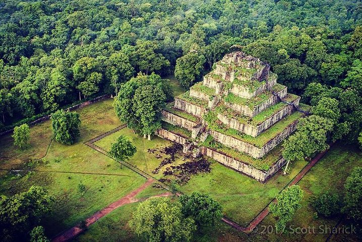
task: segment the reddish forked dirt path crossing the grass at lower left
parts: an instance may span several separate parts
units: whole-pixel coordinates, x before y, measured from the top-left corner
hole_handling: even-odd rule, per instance
[[[87,227],[90,226],[91,224],[96,222],[98,219],[104,217],[108,213],[112,212],[113,210],[115,210],[115,209],[117,209],[117,208],[119,208],[119,207],[121,207],[123,205],[144,201],[145,198],[144,199],[136,199],[135,197],[136,197],[137,194],[139,194],[140,192],[145,190],[147,187],[149,187],[151,184],[153,184],[153,182],[154,182],[153,179],[147,179],[146,183],[144,183],[141,187],[139,187],[136,190],[130,192],[129,194],[127,194],[123,198],[115,201],[114,203],[108,205],[107,207],[103,208],[102,210],[96,212],[95,214],[93,214],[92,216],[87,218],[85,220],[85,225]],[[155,195],[153,197],[167,197],[167,196],[171,196],[171,193],[163,193],[163,194]],[[52,242],[68,241],[68,240],[74,238],[75,236],[77,236],[78,234],[80,234],[81,232],[83,232],[83,230],[84,229],[81,228],[79,225],[76,225],[76,226],[62,232],[61,234],[57,235],[51,241]]]

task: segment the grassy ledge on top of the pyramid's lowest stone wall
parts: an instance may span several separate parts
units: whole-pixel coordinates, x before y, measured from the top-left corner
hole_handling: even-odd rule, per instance
[[[244,163],[247,163],[257,169],[265,171],[269,170],[269,168],[281,158],[281,150],[282,150],[282,146],[278,145],[268,154],[263,156],[263,158],[255,159],[246,153],[240,152],[238,150],[232,149],[228,146],[216,142],[215,140],[213,140],[211,135],[207,137],[207,139],[202,143],[202,145],[205,147],[216,149],[217,151],[225,153],[228,156],[231,156],[239,161],[243,161]]]

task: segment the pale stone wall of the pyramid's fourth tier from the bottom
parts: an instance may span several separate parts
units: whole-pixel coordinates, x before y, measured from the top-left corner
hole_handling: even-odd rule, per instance
[[[287,87],[285,87],[283,90],[277,92],[278,96],[280,98],[284,98],[287,94]],[[240,112],[243,115],[249,116],[249,117],[253,117],[255,115],[257,115],[258,113],[262,112],[263,110],[265,110],[266,108],[270,107],[271,105],[274,105],[278,102],[278,97],[277,96],[270,96],[270,98],[262,103],[260,103],[259,105],[255,106],[254,108],[250,108],[247,105],[239,105],[237,103],[230,103],[230,102],[225,102],[225,106]]]

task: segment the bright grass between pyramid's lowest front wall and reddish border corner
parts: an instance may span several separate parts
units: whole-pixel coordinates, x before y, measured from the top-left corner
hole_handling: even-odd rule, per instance
[[[266,184],[261,184],[214,161],[210,173],[193,176],[188,184],[180,187],[180,190],[187,194],[192,192],[209,194],[221,203],[227,217],[247,226],[306,163],[294,162],[290,174],[285,176],[276,174]]]

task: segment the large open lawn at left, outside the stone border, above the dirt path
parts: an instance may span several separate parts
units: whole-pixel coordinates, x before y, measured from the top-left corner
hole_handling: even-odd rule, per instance
[[[32,185],[44,186],[49,194],[56,198],[54,211],[44,222],[49,236],[74,226],[80,220],[122,198],[145,181],[144,177],[126,167],[120,169],[114,160],[84,144],[121,124],[112,109],[112,101],[107,99],[77,110],[82,119],[81,137],[74,145],[52,142],[46,154],[52,136],[50,121],[30,129],[28,149],[19,150],[14,147],[10,136],[5,136],[0,141],[1,168],[31,168],[45,171],[19,175],[2,171],[0,191],[1,194],[13,195],[28,190]],[[44,155],[44,158],[34,160]],[[83,197],[77,189],[80,181],[87,188]]]

